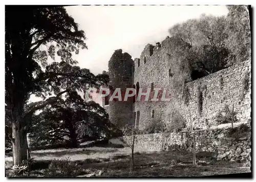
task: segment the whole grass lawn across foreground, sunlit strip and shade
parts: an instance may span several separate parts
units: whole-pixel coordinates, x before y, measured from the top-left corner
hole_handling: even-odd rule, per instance
[[[87,147],[31,151],[31,177],[75,177],[101,172],[106,176],[207,176],[251,172],[245,163],[216,161],[210,152],[155,151],[135,148],[134,171],[130,173],[129,147]],[[53,163],[53,160],[57,160]],[[68,160],[68,161],[67,161]],[[53,164],[52,166],[50,164]],[[51,167],[49,167],[51,166]],[[6,176],[13,177],[12,157],[6,155]],[[27,177],[27,174],[23,175]]]

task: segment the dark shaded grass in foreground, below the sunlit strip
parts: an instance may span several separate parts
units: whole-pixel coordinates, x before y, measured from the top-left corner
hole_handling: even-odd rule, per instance
[[[102,176],[202,176],[248,172],[242,164],[216,161],[214,152],[199,152],[197,161],[203,165],[193,164],[193,153],[186,151],[162,151],[153,153],[134,153],[134,171],[130,173],[131,155],[114,155],[109,158],[88,158],[67,163],[58,162],[56,168],[50,169],[52,161],[35,161],[32,165],[34,174],[41,176],[77,176],[103,171]],[[207,163],[206,163],[207,162]],[[9,163],[8,163],[9,164]],[[67,165],[66,165],[67,164]],[[69,164],[69,165],[68,165]],[[7,164],[6,164],[7,165]],[[60,170],[61,169],[61,170]],[[58,171],[61,171],[58,173]],[[52,172],[52,173],[49,173]],[[65,171],[69,171],[65,174]],[[49,174],[48,174],[49,173]],[[62,174],[63,173],[63,174]]]

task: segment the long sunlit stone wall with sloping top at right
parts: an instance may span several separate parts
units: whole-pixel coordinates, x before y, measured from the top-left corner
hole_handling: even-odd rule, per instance
[[[245,74],[249,74],[249,88],[245,90],[245,96],[242,97],[243,80]],[[225,107],[225,104],[235,112],[241,122],[250,120],[251,114],[251,60],[244,61],[238,65],[230,66],[214,74],[210,74],[201,79],[186,84],[189,90],[189,103],[186,106],[183,102],[176,102],[175,107],[180,110],[189,125],[190,116],[194,122],[194,128],[206,128],[208,124],[214,124],[215,117],[219,110]],[[197,90],[198,86],[202,92],[202,111],[198,110]],[[203,88],[204,87],[204,88]],[[203,89],[202,89],[203,88]]]

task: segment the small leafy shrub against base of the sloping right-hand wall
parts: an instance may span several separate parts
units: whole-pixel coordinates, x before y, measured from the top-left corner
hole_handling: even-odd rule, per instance
[[[216,115],[215,120],[218,124],[231,123],[232,120],[238,122],[237,112],[230,110],[228,105],[225,104],[224,108]]]

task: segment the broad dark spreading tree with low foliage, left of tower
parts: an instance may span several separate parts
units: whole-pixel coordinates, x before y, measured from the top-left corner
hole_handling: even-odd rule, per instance
[[[33,121],[30,138],[40,145],[66,142],[77,147],[80,141],[110,137],[112,129],[105,110],[94,101],[84,102],[76,92],[42,109]]]

